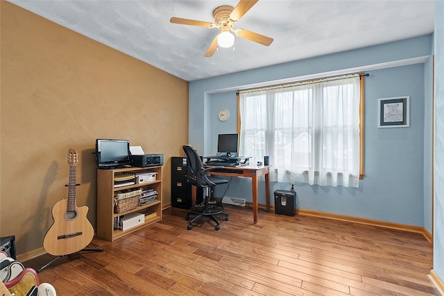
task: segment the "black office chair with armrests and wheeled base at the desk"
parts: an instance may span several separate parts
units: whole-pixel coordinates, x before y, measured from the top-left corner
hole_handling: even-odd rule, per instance
[[[210,187],[228,183],[228,180],[208,175],[208,172],[222,167],[203,167],[202,160],[197,151],[190,145],[184,145],[183,151],[187,155],[187,180],[191,185],[203,190],[203,202],[196,204],[185,216],[185,220],[189,220],[190,215],[196,215],[188,224],[187,229],[193,228],[193,223],[200,221],[203,217],[209,217],[216,222],[214,227],[216,230],[221,228],[218,216],[225,215],[225,221],[228,221],[228,213],[223,211],[221,204],[213,204],[210,202]]]

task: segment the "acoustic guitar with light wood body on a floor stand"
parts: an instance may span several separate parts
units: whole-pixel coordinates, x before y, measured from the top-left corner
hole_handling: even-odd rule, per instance
[[[73,254],[89,245],[94,236],[94,229],[87,219],[88,207],[76,206],[76,165],[77,152],[69,149],[68,199],[62,199],[53,206],[54,223],[46,233],[43,247],[51,255]]]

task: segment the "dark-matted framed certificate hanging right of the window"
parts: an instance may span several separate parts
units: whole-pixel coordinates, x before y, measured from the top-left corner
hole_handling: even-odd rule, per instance
[[[377,99],[377,127],[409,127],[409,96]]]

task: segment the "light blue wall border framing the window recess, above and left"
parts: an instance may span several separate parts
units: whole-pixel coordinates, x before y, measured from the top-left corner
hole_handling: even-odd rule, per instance
[[[207,106],[210,104],[212,94],[227,90],[235,91],[270,81],[302,79],[307,76],[328,75],[336,72],[355,72],[359,69],[380,69],[390,63],[403,61],[413,63],[412,59],[430,55],[430,39],[431,36],[427,35],[339,54],[298,60],[293,63],[191,81],[189,83],[189,143],[194,145],[201,154],[208,155],[212,152],[208,142],[210,131],[207,126],[211,113]]]

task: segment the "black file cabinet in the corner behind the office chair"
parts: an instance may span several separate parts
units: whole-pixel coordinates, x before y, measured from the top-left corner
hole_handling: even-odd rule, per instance
[[[191,207],[191,184],[187,182],[187,158],[171,157],[171,206]]]

